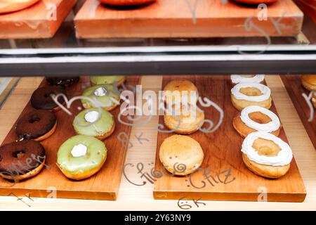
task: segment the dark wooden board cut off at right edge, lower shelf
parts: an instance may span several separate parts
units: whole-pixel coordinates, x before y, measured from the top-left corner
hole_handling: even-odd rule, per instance
[[[310,91],[306,90],[301,83],[300,75],[282,75],[282,82],[287,89],[287,93],[291,98],[294,107],[298,115],[300,116],[304,127],[310,136],[310,141],[312,141],[313,146],[316,150],[316,110],[314,114],[314,120],[312,122],[308,122],[308,118],[310,117],[310,109],[303,98],[302,94],[305,93],[307,96]]]

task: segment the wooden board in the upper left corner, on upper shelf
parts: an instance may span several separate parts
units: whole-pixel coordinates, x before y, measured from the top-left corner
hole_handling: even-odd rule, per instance
[[[76,3],[77,0],[41,0],[21,11],[0,14],[0,39],[51,38]]]

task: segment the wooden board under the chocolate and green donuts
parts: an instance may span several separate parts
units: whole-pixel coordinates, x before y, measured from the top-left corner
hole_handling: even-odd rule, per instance
[[[127,77],[126,84],[136,86],[140,82],[139,77]],[[48,85],[44,80],[40,86]],[[80,96],[82,91],[86,87],[90,86],[88,77],[80,77],[80,81],[67,89],[69,98],[73,96]],[[125,162],[126,145],[121,143],[118,139],[118,135],[121,132],[126,132],[129,136],[131,127],[121,124],[117,120],[119,114],[119,107],[111,111],[116,118],[116,127],[114,133],[105,139],[105,146],[107,147],[107,160],[105,165],[97,174],[81,181],[73,181],[67,179],[60,169],[56,165],[57,151],[59,146],[64,143],[70,137],[76,135],[72,127],[72,121],[74,116],[77,115],[83,108],[79,100],[74,101],[70,107],[72,116],[65,113],[63,110],[59,110],[55,113],[57,117],[57,128],[52,136],[48,139],[41,141],[41,144],[46,150],[46,165],[48,168],[44,168],[37,176],[34,176],[20,183],[14,184],[11,181],[0,178],[0,195],[11,195],[12,193],[17,196],[23,196],[26,194],[33,197],[50,198],[52,193],[55,193],[54,198],[79,198],[79,199],[92,199],[92,200],[116,200],[119,184],[121,181],[122,168]],[[27,103],[25,109],[21,115],[24,115],[29,110],[32,110],[32,105]],[[124,117],[122,118],[123,120]],[[128,120],[125,120],[128,122]],[[16,124],[16,122],[15,122]],[[9,131],[5,143],[11,143],[18,140],[18,136],[15,134],[15,124],[11,131]],[[56,192],[52,192],[55,190]]]

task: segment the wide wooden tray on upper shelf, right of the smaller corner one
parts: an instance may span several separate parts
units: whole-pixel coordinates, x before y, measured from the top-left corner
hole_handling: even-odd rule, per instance
[[[218,0],[159,0],[154,4],[118,10],[87,0],[74,18],[77,37],[93,38],[168,38],[168,37],[261,37],[256,29],[246,31],[249,17],[269,36],[295,36],[301,31],[303,13],[291,0],[277,1],[268,6],[268,18],[282,18],[281,33],[272,21],[258,21],[256,7]],[[189,7],[190,3],[191,7]],[[197,23],[193,23],[193,16]]]

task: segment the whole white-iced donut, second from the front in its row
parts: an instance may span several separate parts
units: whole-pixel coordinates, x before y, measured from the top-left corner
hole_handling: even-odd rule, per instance
[[[242,110],[233,120],[236,131],[246,137],[256,131],[263,131],[279,136],[281,123],[279,117],[270,110],[258,105],[251,105]]]

